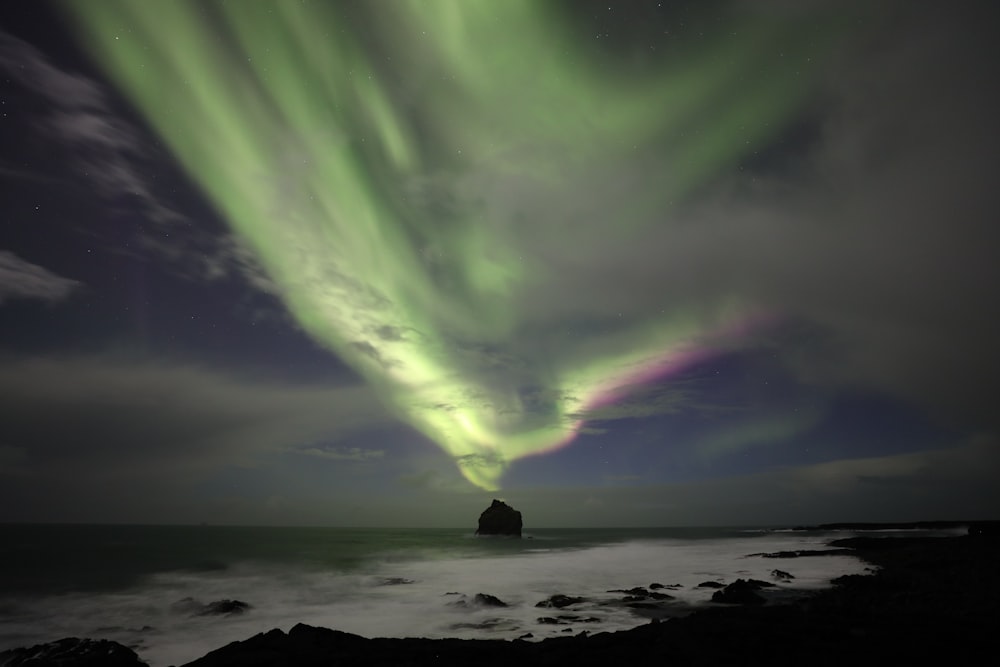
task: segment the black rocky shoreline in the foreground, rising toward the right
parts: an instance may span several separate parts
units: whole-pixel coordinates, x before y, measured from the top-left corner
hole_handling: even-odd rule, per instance
[[[366,639],[300,624],[287,633],[276,629],[234,642],[188,665],[605,665],[620,660],[840,665],[918,659],[971,664],[996,652],[992,633],[998,619],[1000,539],[994,531],[853,537],[833,540],[830,547],[831,553],[848,550],[870,563],[872,572],[839,577],[832,588],[789,603],[755,599],[767,582],[733,582],[718,591],[730,591],[732,597],[719,599],[729,604],[667,620],[654,616],[650,623],[621,632],[584,630],[537,642]],[[751,556],[785,559],[822,553]],[[772,574],[780,579],[789,573],[775,569]],[[556,609],[550,611],[559,611],[558,604],[551,606]],[[64,639],[0,653],[0,667],[143,664],[130,649],[99,640]]]

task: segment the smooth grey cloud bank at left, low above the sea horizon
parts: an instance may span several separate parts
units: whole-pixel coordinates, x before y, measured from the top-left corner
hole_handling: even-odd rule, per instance
[[[365,387],[75,357],[5,360],[0,421],[2,444],[23,452],[19,466],[33,474],[129,479],[252,467],[294,443],[336,443],[390,418]],[[330,458],[376,456],[330,447]]]

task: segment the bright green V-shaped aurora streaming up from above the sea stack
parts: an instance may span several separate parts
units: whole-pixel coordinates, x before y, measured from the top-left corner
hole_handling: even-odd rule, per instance
[[[528,304],[557,277],[540,248],[641,243],[773,139],[832,37],[734,17],[630,63],[598,57],[572,3],[65,8],[298,324],[487,490],[760,312],[728,294],[543,336]],[[665,166],[573,233],[575,197],[627,165]]]

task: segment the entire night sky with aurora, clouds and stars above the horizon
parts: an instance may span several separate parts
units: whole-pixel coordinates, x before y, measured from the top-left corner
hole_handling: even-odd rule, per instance
[[[0,4],[0,521],[997,518],[994,5]]]

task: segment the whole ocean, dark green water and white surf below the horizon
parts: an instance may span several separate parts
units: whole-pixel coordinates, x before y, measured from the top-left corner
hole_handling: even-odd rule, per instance
[[[538,529],[523,539],[463,529],[223,526],[0,526],[0,650],[62,637],[107,638],[153,667],[296,623],[366,637],[531,640],[647,623],[614,589],[675,599],[659,615],[712,604],[704,581],[794,576],[769,595],[861,573],[851,556],[770,559],[822,549],[823,533],[747,528]],[[476,594],[507,606],[489,606]],[[552,595],[584,598],[538,608]],[[239,600],[238,614],[201,615]],[[563,618],[559,618],[562,616]],[[540,618],[551,619],[540,622]],[[555,621],[555,622],[553,622]]]

